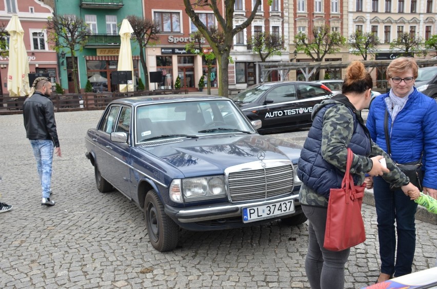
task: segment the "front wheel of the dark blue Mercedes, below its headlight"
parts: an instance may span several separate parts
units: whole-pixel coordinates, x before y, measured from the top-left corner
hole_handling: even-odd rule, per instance
[[[144,201],[144,217],[152,246],[159,252],[173,250],[179,241],[179,226],[164,212],[164,205],[150,190]]]

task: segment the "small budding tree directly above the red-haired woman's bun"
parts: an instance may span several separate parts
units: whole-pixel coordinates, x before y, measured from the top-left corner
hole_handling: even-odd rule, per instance
[[[380,39],[374,32],[359,32],[356,31],[349,35],[349,47],[352,49],[352,54],[362,56],[363,60],[367,60],[369,54],[374,54],[379,49]]]

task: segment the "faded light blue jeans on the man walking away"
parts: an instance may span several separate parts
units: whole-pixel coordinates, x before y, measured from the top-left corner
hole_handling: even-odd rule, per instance
[[[53,141],[48,139],[30,139],[36,159],[39,181],[43,189],[43,198],[50,197],[50,181],[52,178]]]

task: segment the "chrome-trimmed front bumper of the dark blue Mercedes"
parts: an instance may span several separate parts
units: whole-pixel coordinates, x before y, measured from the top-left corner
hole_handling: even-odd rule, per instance
[[[294,200],[294,208],[295,212],[297,212],[296,207],[300,207],[299,202],[299,194],[292,194],[290,196],[275,198],[271,200],[263,200],[263,201],[253,201],[253,202],[243,202],[243,203],[229,203],[229,204],[212,204],[212,205],[202,205],[190,208],[176,208],[171,207],[169,205],[165,205],[165,213],[170,216],[175,221],[182,223],[181,226],[185,227],[184,223],[193,223],[193,222],[203,222],[208,220],[225,220],[227,218],[241,218],[241,224],[243,224],[243,208],[246,207],[254,207],[257,205],[268,205],[275,202]],[[300,209],[300,208],[299,208]],[[300,210],[299,210],[300,211]],[[295,213],[291,213],[290,215],[280,216],[282,218],[287,216],[292,216]],[[275,217],[267,220],[274,220]],[[277,218],[276,218],[277,219]],[[257,223],[252,222],[249,224]]]

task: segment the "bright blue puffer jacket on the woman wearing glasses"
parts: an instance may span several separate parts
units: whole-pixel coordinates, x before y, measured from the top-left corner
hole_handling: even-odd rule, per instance
[[[384,133],[384,115],[387,110],[385,98],[376,96],[370,106],[366,126],[372,140],[384,151],[387,144]],[[425,178],[423,186],[437,189],[437,103],[415,88],[408,96],[404,108],[392,122],[388,116],[391,158],[398,163],[419,160],[422,151]]]

